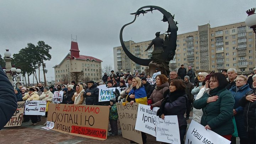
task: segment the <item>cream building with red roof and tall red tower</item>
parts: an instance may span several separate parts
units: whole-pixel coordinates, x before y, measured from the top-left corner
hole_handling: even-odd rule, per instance
[[[70,73],[72,72],[83,72],[84,78],[81,79],[82,82],[100,81],[101,79],[101,62],[102,60],[80,55],[78,43],[76,41],[71,41],[70,53],[68,53],[64,59],[55,65],[55,83],[56,84],[71,84]]]

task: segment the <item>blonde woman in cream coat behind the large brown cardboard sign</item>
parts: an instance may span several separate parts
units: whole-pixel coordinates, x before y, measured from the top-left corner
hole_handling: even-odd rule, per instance
[[[74,101],[74,105],[82,105],[85,104],[85,100],[84,100],[84,88],[82,87],[82,85],[76,85],[76,92],[74,94],[74,96],[72,97],[72,101]]]

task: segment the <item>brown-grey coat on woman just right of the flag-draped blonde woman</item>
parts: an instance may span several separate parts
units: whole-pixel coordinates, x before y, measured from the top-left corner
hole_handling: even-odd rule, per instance
[[[149,97],[149,99],[152,99],[153,107],[160,107],[161,101],[164,99],[164,94],[166,94],[166,92],[169,92],[168,82],[165,82],[164,84],[155,87]]]

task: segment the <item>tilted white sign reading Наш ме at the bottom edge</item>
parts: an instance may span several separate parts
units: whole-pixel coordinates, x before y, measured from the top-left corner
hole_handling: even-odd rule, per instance
[[[230,141],[192,120],[187,130],[185,144],[230,144]]]

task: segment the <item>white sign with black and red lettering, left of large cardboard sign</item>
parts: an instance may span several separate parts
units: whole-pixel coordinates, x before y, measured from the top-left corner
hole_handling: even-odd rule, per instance
[[[26,100],[25,115],[45,115],[46,101]]]

